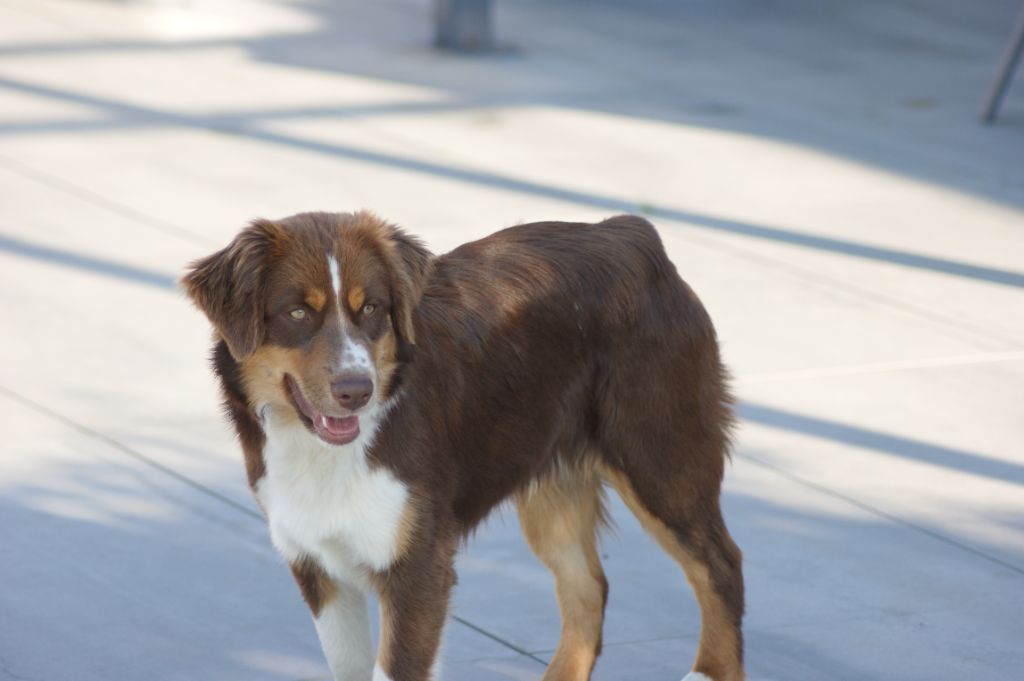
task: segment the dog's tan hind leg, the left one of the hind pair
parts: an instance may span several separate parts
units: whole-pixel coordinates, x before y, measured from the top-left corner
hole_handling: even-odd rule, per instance
[[[587,681],[601,652],[608,583],[597,555],[601,481],[592,470],[560,470],[518,498],[534,553],[552,571],[562,616],[558,649],[543,681]]]

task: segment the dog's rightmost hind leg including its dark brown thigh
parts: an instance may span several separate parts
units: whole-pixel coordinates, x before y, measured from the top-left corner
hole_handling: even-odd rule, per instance
[[[711,321],[671,279],[637,311],[642,333],[601,361],[599,469],[693,588],[700,639],[689,679],[742,681],[741,556],[720,507],[731,399]]]

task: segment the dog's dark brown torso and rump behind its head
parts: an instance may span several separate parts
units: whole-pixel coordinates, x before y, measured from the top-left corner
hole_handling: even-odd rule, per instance
[[[715,331],[646,220],[462,246],[436,260],[415,324],[431,339],[407,377],[415,427],[465,459],[468,526],[555,465],[651,459],[717,494],[731,412]]]

